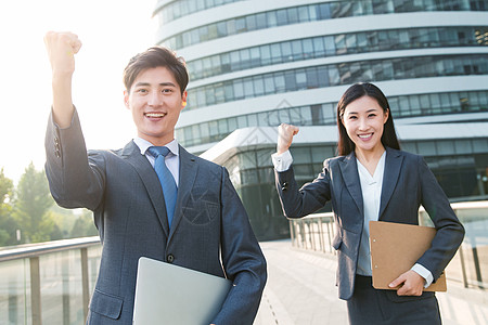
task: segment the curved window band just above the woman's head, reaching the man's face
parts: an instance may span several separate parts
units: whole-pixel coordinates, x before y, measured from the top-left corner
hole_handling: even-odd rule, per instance
[[[281,51],[281,49],[280,49]],[[416,56],[406,58],[383,58],[375,61],[351,62],[277,72],[253,77],[228,80],[224,83],[211,83],[198,88],[190,88],[189,93],[196,93],[196,101],[190,102],[187,109],[256,98],[264,94],[298,91],[310,88],[349,84],[354,80],[383,81],[409,78],[425,78],[434,76],[466,76],[488,74],[487,55],[452,55],[452,56]],[[436,62],[436,64],[434,64]],[[427,68],[427,66],[432,68]],[[470,68],[462,68],[470,66]],[[444,67],[444,69],[441,68]],[[449,68],[452,67],[452,68]],[[312,73],[313,72],[313,73]],[[316,79],[316,76],[318,79]],[[308,77],[311,77],[309,80]],[[258,81],[259,80],[259,81]],[[318,82],[317,82],[318,81]],[[254,84],[265,84],[265,92],[257,90]],[[233,87],[233,98],[230,91],[221,91],[222,87]],[[201,93],[205,92],[204,95]],[[418,99],[416,99],[418,100]],[[428,102],[428,98],[423,99]],[[468,103],[468,100],[466,100]],[[470,105],[461,103],[461,109],[470,109]],[[413,114],[421,114],[421,108],[429,107],[413,103]]]

